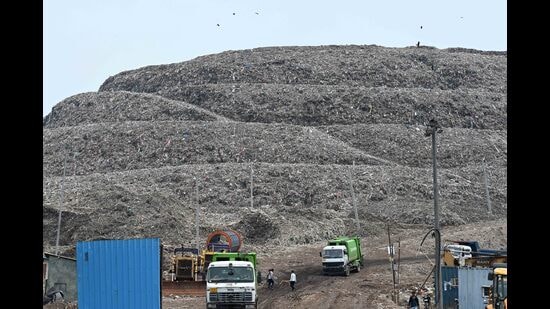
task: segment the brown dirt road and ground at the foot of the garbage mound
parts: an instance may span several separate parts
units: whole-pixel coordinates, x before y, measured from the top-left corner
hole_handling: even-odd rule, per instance
[[[397,246],[398,240],[400,243],[400,264],[395,286],[399,305],[396,304],[395,297],[392,300],[394,284],[386,248],[387,235],[362,238],[363,250],[366,252],[365,267],[349,277],[321,274],[319,251],[324,243],[274,248],[271,252],[245,248],[246,251],[258,252],[262,274],[265,275],[270,268],[275,269],[275,288],[267,289],[265,281],[259,287],[259,307],[404,308],[411,289],[419,287],[427,277],[427,285],[432,283],[429,274],[433,265],[433,239],[428,236],[419,248],[427,231],[425,227],[409,227],[396,229],[391,233],[395,245]],[[479,241],[486,248],[506,248],[506,221],[443,227],[442,238],[443,242],[448,239],[470,239]],[[297,275],[297,289],[294,292],[287,282],[291,270]],[[163,298],[165,309],[204,308],[205,305],[204,297]]]

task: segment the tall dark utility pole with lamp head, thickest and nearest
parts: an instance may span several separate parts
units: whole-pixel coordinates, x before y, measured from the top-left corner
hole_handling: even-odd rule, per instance
[[[434,186],[434,230],[437,234],[440,234],[439,231],[439,205],[438,205],[438,187],[437,187],[437,160],[436,160],[436,133],[441,133],[443,130],[441,126],[432,118],[428,125],[426,126],[425,136],[432,137],[432,163],[433,163],[433,186]],[[442,293],[441,293],[441,237],[436,237],[435,239],[435,304],[437,309],[443,308],[442,302]]]

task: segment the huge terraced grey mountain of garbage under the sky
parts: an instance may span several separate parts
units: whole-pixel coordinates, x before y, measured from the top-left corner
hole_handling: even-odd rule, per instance
[[[67,250],[97,238],[194,242],[197,205],[202,238],[234,228],[251,244],[356,233],[354,205],[359,234],[431,224],[431,118],[443,129],[442,224],[504,218],[506,71],[506,52],[369,45],[121,72],[44,118],[44,245],[55,245],[60,208]]]

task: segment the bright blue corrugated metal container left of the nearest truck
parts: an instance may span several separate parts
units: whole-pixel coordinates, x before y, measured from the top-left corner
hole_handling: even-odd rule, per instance
[[[158,238],[83,241],[76,245],[78,308],[161,308]]]

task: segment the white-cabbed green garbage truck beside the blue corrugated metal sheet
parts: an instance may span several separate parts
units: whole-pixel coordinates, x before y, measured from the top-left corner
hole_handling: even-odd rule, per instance
[[[257,308],[256,253],[216,252],[206,272],[206,308]]]

